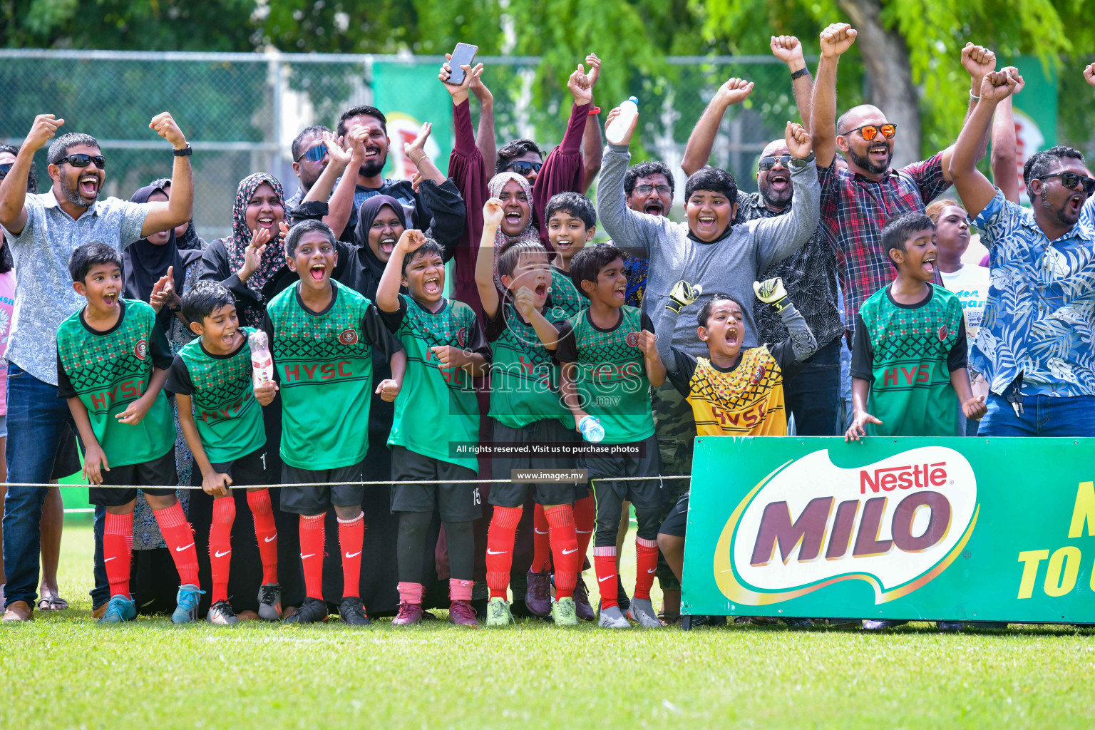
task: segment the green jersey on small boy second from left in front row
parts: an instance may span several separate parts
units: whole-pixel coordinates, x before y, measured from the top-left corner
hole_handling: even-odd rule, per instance
[[[201,447],[214,464],[246,456],[266,443],[263,407],[251,380],[251,327],[240,327],[243,345],[232,355],[211,355],[193,339],[178,350],[166,389],[188,395]]]

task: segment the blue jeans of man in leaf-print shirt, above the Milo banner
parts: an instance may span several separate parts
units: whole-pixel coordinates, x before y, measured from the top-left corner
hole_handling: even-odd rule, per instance
[[[1095,395],[1067,398],[1023,396],[1023,413],[1002,395],[989,393],[989,413],[981,419],[980,436],[1095,436]],[[7,530],[7,526],[4,528]],[[7,533],[4,533],[7,535]]]

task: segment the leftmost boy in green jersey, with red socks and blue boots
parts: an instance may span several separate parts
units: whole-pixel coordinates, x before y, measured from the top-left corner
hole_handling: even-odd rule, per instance
[[[129,567],[140,486],[182,579],[171,618],[185,624],[197,617],[201,591],[193,533],[175,498],[175,427],[163,394],[171,348],[155,310],[122,299],[117,251],[85,243],[72,252],[69,273],[88,304],[57,329],[57,394],[68,398],[83,440],[89,500],[106,508],[103,560],[111,601],[100,621],[137,615]]]

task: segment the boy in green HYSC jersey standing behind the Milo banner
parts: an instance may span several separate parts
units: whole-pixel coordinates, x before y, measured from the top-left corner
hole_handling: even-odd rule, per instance
[[[844,438],[960,436],[955,398],[971,419],[980,419],[986,405],[984,396],[973,396],[966,374],[961,302],[932,283],[935,224],[923,213],[902,213],[883,229],[881,242],[897,278],[860,308],[852,349],[854,414]]]

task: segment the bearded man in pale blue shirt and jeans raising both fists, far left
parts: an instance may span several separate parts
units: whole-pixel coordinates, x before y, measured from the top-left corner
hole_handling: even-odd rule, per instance
[[[41,114],[0,182],[0,227],[19,268],[14,325],[7,359],[8,478],[12,483],[49,480],[64,429],[71,428],[65,399],[57,397],[57,327],[80,309],[68,260],[81,244],[97,241],[122,250],[153,233],[191,220],[194,184],[191,148],[166,112],[149,128],[174,148],[171,200],[136,204],[100,198],[106,159],[88,135],[67,134],[49,147],[53,186],[42,195],[28,189],[34,153],[54,138],[64,119]],[[27,621],[38,582],[38,544],[44,487],[11,487],[4,501],[4,621]]]

